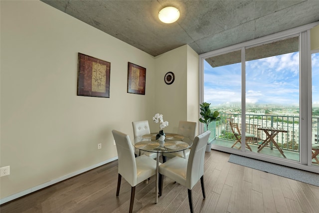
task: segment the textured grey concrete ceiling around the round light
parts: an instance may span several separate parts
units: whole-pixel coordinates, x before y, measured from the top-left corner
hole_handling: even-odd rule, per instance
[[[198,54],[319,21],[319,0],[42,0],[153,56],[188,44]],[[180,10],[160,22],[165,6]]]

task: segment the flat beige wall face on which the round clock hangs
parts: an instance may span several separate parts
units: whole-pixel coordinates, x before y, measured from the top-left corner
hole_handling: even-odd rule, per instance
[[[166,132],[176,132],[179,120],[187,119],[187,45],[156,57],[155,111],[163,114],[169,125]],[[167,85],[164,75],[173,72],[175,80]]]

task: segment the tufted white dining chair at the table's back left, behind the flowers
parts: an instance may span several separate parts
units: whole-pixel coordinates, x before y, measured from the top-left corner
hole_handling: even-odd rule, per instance
[[[133,125],[133,134],[134,134],[134,143],[143,141],[142,136],[151,133],[149,121],[147,120],[133,121],[132,125]],[[150,158],[153,158],[153,159],[157,157],[157,153],[140,151],[138,149],[135,149],[135,155],[139,156],[140,154],[149,156]]]

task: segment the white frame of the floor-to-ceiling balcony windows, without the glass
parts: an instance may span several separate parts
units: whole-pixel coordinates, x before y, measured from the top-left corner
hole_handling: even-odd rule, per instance
[[[318,173],[318,166],[312,166],[311,162],[311,140],[312,137],[312,76],[311,76],[311,54],[313,51],[310,50],[310,29],[319,25],[319,21],[313,22],[307,25],[296,27],[293,29],[285,30],[268,36],[260,37],[250,41],[242,42],[232,46],[224,47],[221,49],[213,50],[199,55],[199,104],[204,101],[204,59],[241,50],[241,66],[242,66],[242,118],[245,118],[245,97],[246,97],[246,86],[245,86],[245,48],[250,48],[262,44],[267,44],[280,39],[286,39],[293,36],[299,36],[299,54],[300,54],[300,141],[308,141],[308,143],[300,143],[300,162],[293,162],[287,159],[275,159],[271,156],[263,156],[256,153],[246,152],[245,146],[242,145],[240,151],[214,146],[213,149],[220,150],[227,153],[242,155],[250,158],[264,160],[272,163],[281,164],[284,166],[290,166],[298,169],[303,169],[311,172]],[[319,50],[318,50],[319,52]],[[242,119],[242,131],[245,131],[245,119]],[[199,132],[203,132],[203,124],[199,124]],[[244,137],[243,137],[244,138]],[[243,140],[244,143],[245,139]]]

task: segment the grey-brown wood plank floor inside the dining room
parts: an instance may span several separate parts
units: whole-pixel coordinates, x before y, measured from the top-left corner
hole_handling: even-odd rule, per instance
[[[205,191],[193,189],[196,213],[319,213],[319,187],[228,163],[228,153],[205,154]],[[1,213],[126,213],[131,186],[122,179],[116,198],[117,161],[3,204]],[[155,177],[136,187],[134,213],[188,213],[187,189],[164,179],[155,200]]]

